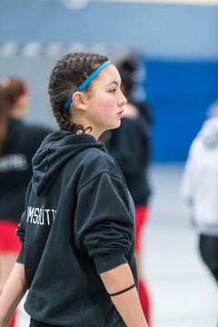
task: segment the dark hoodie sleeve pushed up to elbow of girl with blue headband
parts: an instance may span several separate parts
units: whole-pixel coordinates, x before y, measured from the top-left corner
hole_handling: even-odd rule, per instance
[[[94,259],[98,273],[127,263],[134,240],[132,201],[124,182],[101,173],[78,193],[74,219],[76,247]]]

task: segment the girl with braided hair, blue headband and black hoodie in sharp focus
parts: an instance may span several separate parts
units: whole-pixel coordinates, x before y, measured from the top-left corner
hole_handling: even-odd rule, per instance
[[[0,327],[27,292],[31,327],[147,327],[134,262],[134,203],[104,145],[126,99],[114,64],[100,54],[66,54],[48,93],[60,130],[33,159],[22,249],[0,297]]]

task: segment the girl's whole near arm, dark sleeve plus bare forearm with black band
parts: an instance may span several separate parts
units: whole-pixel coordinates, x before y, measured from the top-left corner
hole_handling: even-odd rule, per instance
[[[116,166],[113,172],[98,174],[81,187],[74,215],[75,246],[94,260],[109,294],[136,280],[128,264],[134,252],[134,207]],[[127,327],[148,327],[135,287],[110,298]]]

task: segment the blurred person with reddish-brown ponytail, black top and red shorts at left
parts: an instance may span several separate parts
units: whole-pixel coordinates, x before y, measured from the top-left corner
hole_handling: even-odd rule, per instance
[[[17,77],[0,83],[0,293],[20,250],[15,231],[25,209],[32,158],[50,131],[23,122],[28,107],[26,84]],[[10,327],[15,326],[15,316]]]

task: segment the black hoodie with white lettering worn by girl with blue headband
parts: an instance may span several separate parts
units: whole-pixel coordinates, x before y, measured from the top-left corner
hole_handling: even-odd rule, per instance
[[[124,326],[99,276],[134,263],[134,204],[124,177],[89,134],[49,134],[33,159],[17,234],[38,322],[69,327]]]

